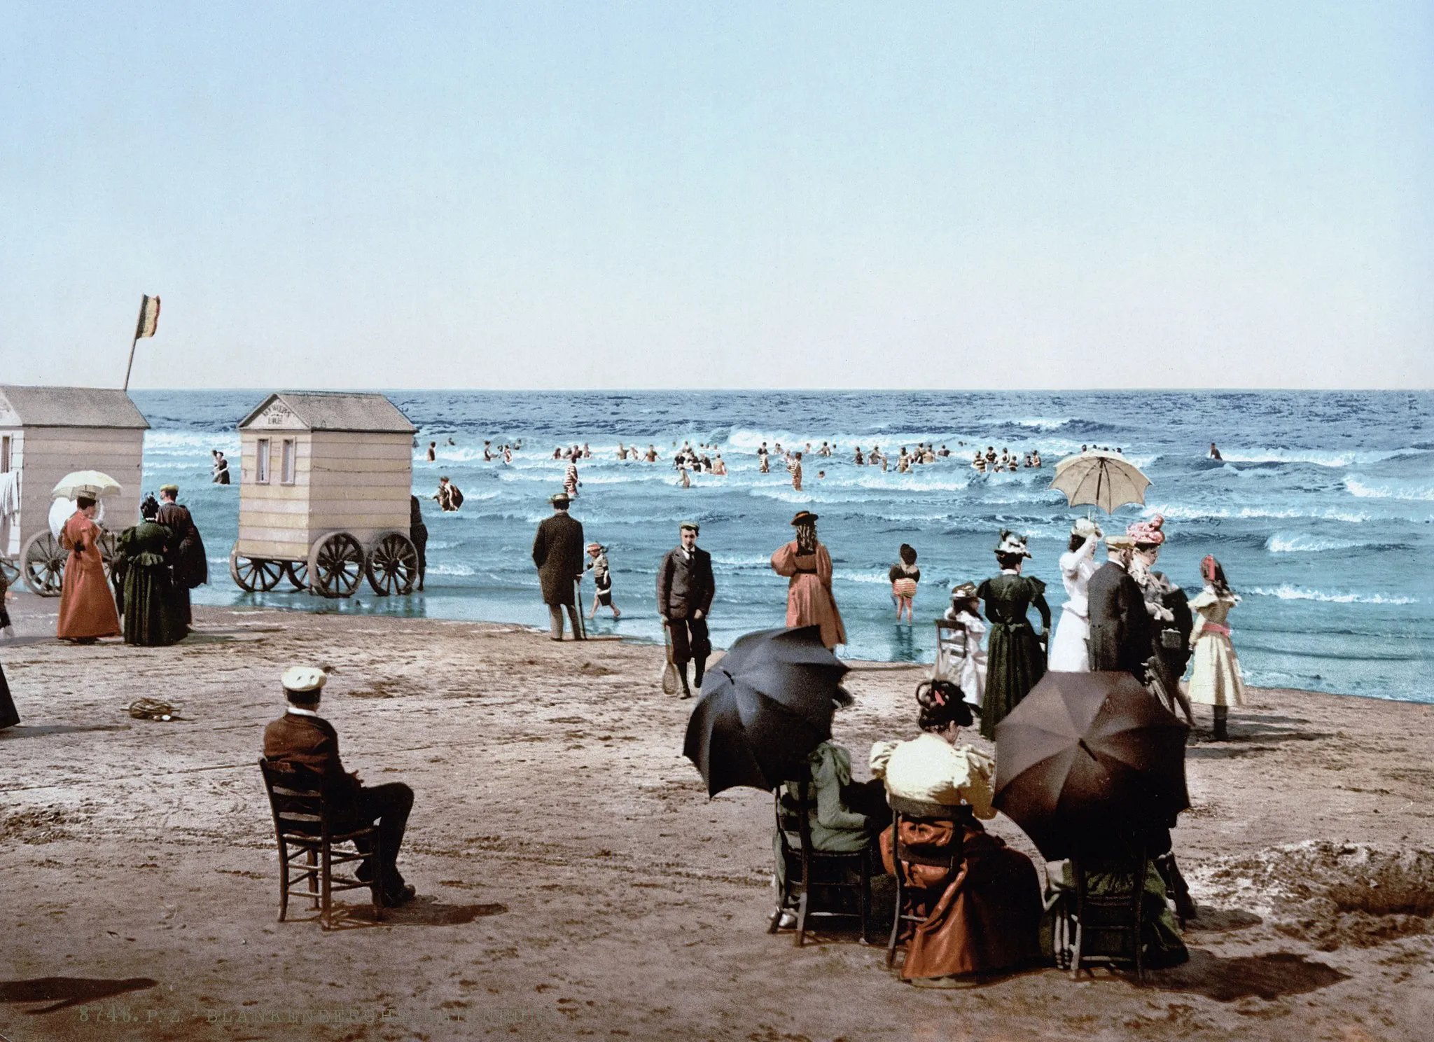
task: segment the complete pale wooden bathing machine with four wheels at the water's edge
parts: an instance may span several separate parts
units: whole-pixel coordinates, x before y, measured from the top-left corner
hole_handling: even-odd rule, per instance
[[[281,391],[239,423],[239,537],[229,575],[245,591],[281,579],[321,596],[409,593],[416,427],[381,394]]]

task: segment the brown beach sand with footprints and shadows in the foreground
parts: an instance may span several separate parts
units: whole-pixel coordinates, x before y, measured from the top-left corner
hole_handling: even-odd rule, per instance
[[[931,992],[850,933],[764,932],[770,797],[706,798],[657,648],[219,609],[175,648],[80,648],[42,636],[54,603],[14,602],[30,636],[0,648],[23,717],[0,732],[11,1042],[1434,1038],[1430,705],[1253,691],[1230,742],[1192,740],[1187,966]],[[254,761],[294,662],[337,666],[350,770],[417,793],[420,899],[386,923],[275,922]],[[852,674],[858,761],[915,732],[918,678]],[[128,717],[145,695],[182,720]]]

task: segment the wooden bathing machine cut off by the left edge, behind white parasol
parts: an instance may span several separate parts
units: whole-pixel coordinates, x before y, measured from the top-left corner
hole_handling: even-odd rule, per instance
[[[59,596],[69,558],[50,535],[50,494],[75,470],[99,470],[123,492],[106,496],[108,532],[139,520],[149,424],[125,391],[0,384],[0,568],[42,596]],[[100,543],[108,562],[113,537]]]

